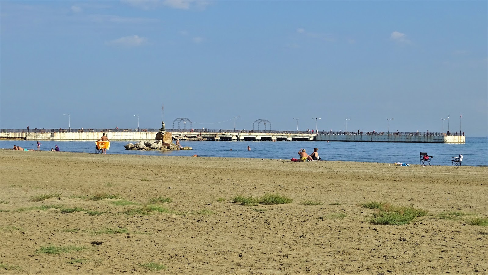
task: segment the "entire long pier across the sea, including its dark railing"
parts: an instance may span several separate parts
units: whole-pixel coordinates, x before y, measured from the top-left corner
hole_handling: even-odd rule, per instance
[[[159,129],[0,129],[1,139],[25,140],[97,140],[106,133],[112,141],[155,140]],[[233,129],[166,129],[173,140],[204,141],[355,141],[355,142],[417,142],[465,143],[463,135],[423,132],[335,132],[276,131]]]

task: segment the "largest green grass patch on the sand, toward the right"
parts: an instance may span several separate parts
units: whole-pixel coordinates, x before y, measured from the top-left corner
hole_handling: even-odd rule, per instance
[[[403,225],[410,223],[417,217],[427,216],[428,211],[413,208],[410,206],[392,206],[387,202],[367,202],[360,206],[376,209],[370,222],[373,224],[383,225]]]

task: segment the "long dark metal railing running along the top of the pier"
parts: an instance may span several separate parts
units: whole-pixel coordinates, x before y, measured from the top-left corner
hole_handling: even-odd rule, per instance
[[[0,129],[0,133],[76,133],[76,132],[158,132],[158,128],[34,128],[34,129]],[[327,134],[327,135],[399,135],[399,136],[462,136],[461,132],[376,132],[376,131],[282,131],[282,130],[239,130],[239,129],[180,129],[168,128],[168,132],[195,132],[195,133],[246,133],[246,134]]]

